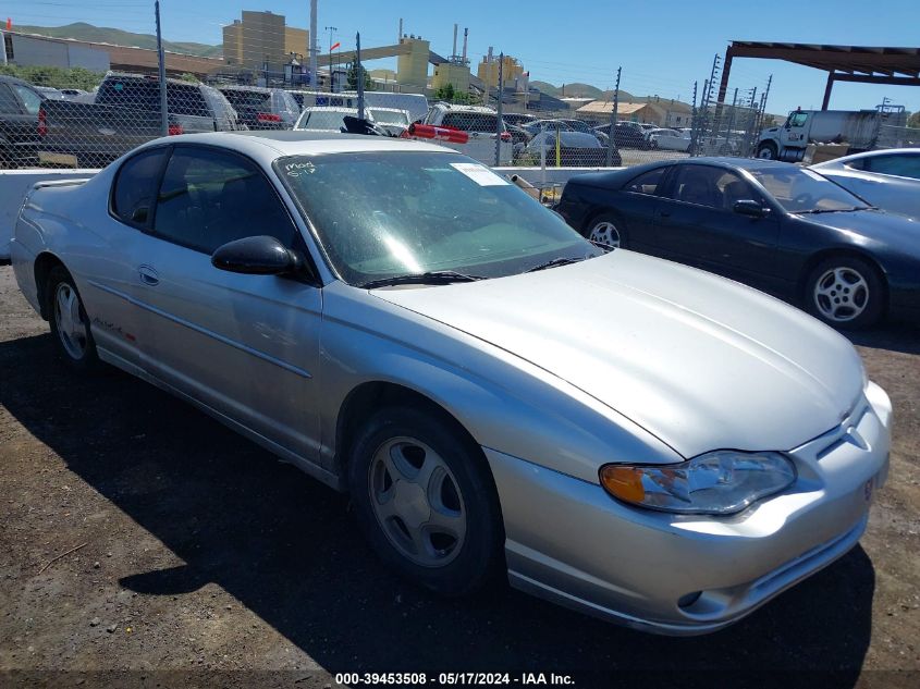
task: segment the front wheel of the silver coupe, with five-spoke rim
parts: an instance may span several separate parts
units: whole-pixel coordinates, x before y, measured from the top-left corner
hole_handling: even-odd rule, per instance
[[[439,414],[382,409],[348,465],[358,522],[378,556],[443,595],[481,589],[503,564],[498,492],[480,448]]]

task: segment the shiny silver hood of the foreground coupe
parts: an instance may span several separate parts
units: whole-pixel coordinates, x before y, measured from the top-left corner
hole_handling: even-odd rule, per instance
[[[792,450],[863,386],[847,340],[738,283],[617,249],[561,268],[377,297],[551,372],[685,457]]]

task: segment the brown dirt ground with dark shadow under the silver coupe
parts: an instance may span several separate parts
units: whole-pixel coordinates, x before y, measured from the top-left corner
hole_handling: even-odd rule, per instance
[[[770,685],[920,686],[920,331],[857,344],[896,414],[861,546],[729,630],[668,639],[513,591],[457,602],[404,585],[344,497],[150,385],[70,373],[0,267],[0,685],[526,670],[586,688],[747,686],[729,669]]]

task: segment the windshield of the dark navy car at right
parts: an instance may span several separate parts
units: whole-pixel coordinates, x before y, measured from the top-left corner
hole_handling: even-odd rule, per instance
[[[755,168],[749,170],[790,213],[818,213],[870,208],[866,201],[811,170]]]

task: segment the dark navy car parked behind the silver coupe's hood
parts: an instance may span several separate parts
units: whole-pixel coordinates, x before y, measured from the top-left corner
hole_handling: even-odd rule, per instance
[[[592,241],[780,294],[836,327],[920,316],[920,225],[792,163],[695,158],[578,175],[557,210]]]

